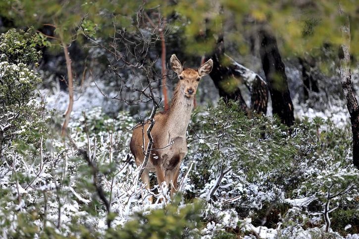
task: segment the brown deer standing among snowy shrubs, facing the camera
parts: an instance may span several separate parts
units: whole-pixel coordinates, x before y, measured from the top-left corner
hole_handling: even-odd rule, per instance
[[[154,125],[151,130],[153,147],[141,179],[150,190],[149,173],[155,172],[159,186],[164,182],[168,187],[171,186],[172,198],[178,188],[177,179],[181,162],[187,154],[186,131],[194,107],[194,97],[201,78],[212,70],[213,60],[207,60],[198,69],[183,68],[173,54],[170,65],[179,80],[172,93],[169,109],[154,115]],[[132,132],[130,149],[137,167],[142,166],[145,159],[149,143],[147,129],[150,123],[150,120],[147,120],[135,126]]]

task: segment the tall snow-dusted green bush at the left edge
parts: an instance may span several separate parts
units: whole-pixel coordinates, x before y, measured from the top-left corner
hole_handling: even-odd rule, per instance
[[[31,69],[41,54],[31,30],[11,29],[0,36],[0,156],[4,144],[21,132],[30,131],[41,107],[34,100],[41,78]],[[31,130],[33,131],[34,128]]]

